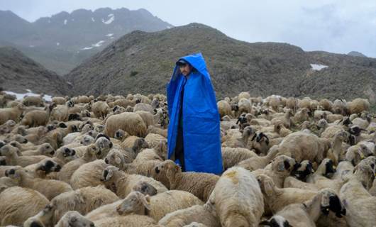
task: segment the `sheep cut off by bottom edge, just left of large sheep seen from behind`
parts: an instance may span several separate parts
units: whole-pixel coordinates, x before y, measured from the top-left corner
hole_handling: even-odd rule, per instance
[[[193,221],[198,221],[208,227],[221,227],[221,223],[214,209],[214,205],[207,202],[202,206],[195,205],[171,212],[160,219],[158,223],[165,227],[183,227]]]

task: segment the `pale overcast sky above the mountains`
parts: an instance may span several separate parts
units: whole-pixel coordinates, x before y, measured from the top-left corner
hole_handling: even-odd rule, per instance
[[[179,5],[177,4],[179,2]],[[238,40],[376,57],[376,0],[0,0],[28,21],[75,9],[144,8],[174,26],[204,23]]]

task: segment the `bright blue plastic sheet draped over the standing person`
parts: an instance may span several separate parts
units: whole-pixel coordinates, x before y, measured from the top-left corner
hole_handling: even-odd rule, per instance
[[[167,103],[170,124],[168,126],[168,158],[175,150],[179,109],[183,105],[184,165],[186,171],[220,174],[223,171],[221,135],[216,95],[204,57],[201,53],[188,55],[186,60],[197,71],[191,72],[184,86],[183,104],[179,95],[183,74],[175,66],[170,83],[167,84]]]

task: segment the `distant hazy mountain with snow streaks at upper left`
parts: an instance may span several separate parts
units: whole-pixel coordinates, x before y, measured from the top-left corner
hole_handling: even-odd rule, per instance
[[[172,25],[145,9],[101,8],[62,11],[30,23],[11,11],[0,11],[0,45],[11,46],[48,70],[66,74],[84,59],[131,31],[160,31]]]

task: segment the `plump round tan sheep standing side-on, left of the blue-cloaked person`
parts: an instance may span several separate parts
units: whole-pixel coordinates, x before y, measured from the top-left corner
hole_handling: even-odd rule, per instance
[[[122,129],[129,133],[129,135],[137,135],[145,137],[147,127],[143,118],[136,113],[121,113],[107,118],[104,133],[110,137],[114,137],[115,132]]]

